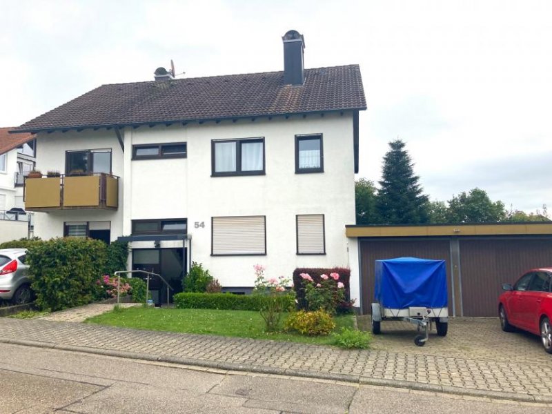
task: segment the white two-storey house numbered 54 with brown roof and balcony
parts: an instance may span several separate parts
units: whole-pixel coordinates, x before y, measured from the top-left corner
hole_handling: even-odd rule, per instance
[[[235,293],[253,287],[255,264],[275,277],[357,266],[345,225],[366,109],[359,66],[304,69],[304,37],[282,39],[284,71],[175,79],[158,68],[16,128],[37,135],[37,168],[63,172],[26,180],[26,208],[47,212],[35,234],[126,240],[129,266],[175,291],[192,261]]]

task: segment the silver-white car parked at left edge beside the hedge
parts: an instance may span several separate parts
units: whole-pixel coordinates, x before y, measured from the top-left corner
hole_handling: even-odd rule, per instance
[[[26,248],[0,250],[0,299],[12,304],[26,304],[32,300],[32,290],[25,264]]]

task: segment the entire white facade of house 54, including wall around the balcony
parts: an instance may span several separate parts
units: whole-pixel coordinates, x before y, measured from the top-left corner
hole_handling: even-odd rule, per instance
[[[131,235],[132,220],[184,218],[191,260],[224,287],[253,286],[254,264],[266,266],[270,277],[290,277],[297,267],[349,267],[355,269],[351,284],[358,283],[357,256],[351,263],[345,235],[345,225],[355,223],[353,112],[141,126],[121,135],[124,152],[114,130],[39,134],[37,169],[43,172],[64,172],[67,150],[110,149],[112,174],[120,177],[119,207],[41,214],[35,235],[61,237],[66,221],[110,221],[115,240]],[[324,172],[295,172],[296,135],[322,135]],[[213,140],[255,137],[264,138],[264,175],[212,177]],[[132,159],[132,146],[169,143],[186,143],[187,157]],[[324,255],[297,254],[296,216],[310,214],[324,215]],[[211,255],[212,217],[228,216],[266,217],[266,255]],[[181,242],[161,242],[161,248],[176,246]],[[152,248],[153,242],[132,247]],[[353,291],[357,297],[358,288],[351,286]]]

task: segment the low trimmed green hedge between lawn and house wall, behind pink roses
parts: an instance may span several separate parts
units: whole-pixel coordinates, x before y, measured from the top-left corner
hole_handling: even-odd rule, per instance
[[[177,293],[173,300],[177,308],[230,309],[233,311],[260,311],[266,302],[263,295],[233,295],[232,293]],[[293,295],[280,295],[282,308],[295,307]]]

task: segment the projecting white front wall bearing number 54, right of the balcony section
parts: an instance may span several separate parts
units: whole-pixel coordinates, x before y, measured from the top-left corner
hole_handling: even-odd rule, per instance
[[[295,135],[323,134],[324,172],[295,174]],[[211,141],[264,137],[266,175],[211,177]],[[348,266],[345,224],[355,222],[352,115],[239,120],[128,129],[125,146],[184,141],[186,159],[131,161],[125,154],[125,228],[132,219],[188,219],[193,260],[223,286],[253,286],[253,265],[267,275],[296,267]],[[130,165],[129,165],[130,164]],[[295,215],[324,214],[326,255],[297,255]],[[211,217],[265,215],[266,256],[213,257]],[[195,222],[204,228],[194,228]],[[163,245],[164,246],[164,245]],[[353,264],[357,266],[357,264]]]

